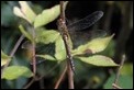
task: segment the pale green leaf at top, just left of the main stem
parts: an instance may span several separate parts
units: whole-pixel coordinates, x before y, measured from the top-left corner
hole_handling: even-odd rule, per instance
[[[44,10],[35,18],[34,27],[43,26],[54,21],[59,15],[59,5]]]

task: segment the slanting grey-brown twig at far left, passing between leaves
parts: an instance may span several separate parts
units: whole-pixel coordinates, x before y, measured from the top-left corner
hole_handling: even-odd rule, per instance
[[[21,35],[20,38],[18,40],[18,42],[15,43],[13,49],[12,49],[11,53],[10,53],[10,56],[11,56],[11,57],[13,57],[13,55],[15,54],[15,52],[16,52],[19,45],[21,44],[21,42],[22,42],[23,40],[24,40],[24,36]],[[11,61],[11,59],[7,61],[7,64],[4,65],[2,71],[1,71],[1,75],[2,75],[3,70],[9,66],[10,61]]]

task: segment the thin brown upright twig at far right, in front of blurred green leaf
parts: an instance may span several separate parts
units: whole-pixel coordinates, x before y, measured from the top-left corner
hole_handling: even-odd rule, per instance
[[[120,77],[120,71],[121,71],[121,68],[123,67],[123,64],[124,64],[124,60],[125,60],[125,55],[122,56],[122,59],[121,59],[121,64],[120,64],[120,67],[118,68],[118,72],[116,72],[116,76],[115,76],[115,80],[113,82],[113,88],[118,86],[118,81],[119,81],[119,77]],[[116,89],[116,88],[114,88]]]

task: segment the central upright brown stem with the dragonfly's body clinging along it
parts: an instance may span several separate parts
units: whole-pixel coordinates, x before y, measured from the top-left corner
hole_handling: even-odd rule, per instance
[[[74,71],[75,67],[72,65],[72,57],[70,54],[70,47],[69,47],[69,35],[66,26],[66,21],[65,21],[65,5],[64,1],[60,1],[60,19],[58,20],[58,30],[60,31],[60,34],[64,40],[65,48],[66,48],[66,54],[67,54],[67,72],[68,72],[68,88],[74,89]]]

